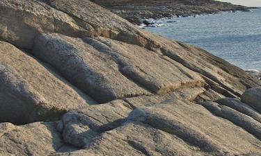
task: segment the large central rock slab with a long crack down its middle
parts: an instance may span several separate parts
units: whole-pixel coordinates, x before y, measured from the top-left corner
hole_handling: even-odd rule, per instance
[[[204,85],[203,78],[178,62],[104,37],[39,35],[33,55],[100,102]]]

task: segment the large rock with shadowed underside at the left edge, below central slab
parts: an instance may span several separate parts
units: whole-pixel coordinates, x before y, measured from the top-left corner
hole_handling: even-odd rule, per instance
[[[57,120],[69,110],[93,103],[47,64],[0,42],[0,121]]]

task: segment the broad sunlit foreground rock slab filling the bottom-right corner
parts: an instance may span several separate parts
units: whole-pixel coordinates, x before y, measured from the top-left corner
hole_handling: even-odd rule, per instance
[[[93,123],[86,122],[90,117],[82,120],[76,114],[65,116],[95,129]],[[92,139],[82,144],[83,150],[58,155],[260,155],[260,140],[203,106],[180,100],[138,108],[118,128],[100,135],[84,130],[74,138],[79,141],[90,136]]]

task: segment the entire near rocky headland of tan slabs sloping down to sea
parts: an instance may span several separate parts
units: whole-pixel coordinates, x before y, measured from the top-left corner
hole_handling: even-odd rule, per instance
[[[0,155],[261,155],[261,82],[88,0],[0,1]]]

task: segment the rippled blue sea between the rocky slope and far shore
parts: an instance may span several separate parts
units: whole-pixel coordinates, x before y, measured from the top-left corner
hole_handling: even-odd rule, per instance
[[[161,19],[153,33],[199,46],[242,69],[261,71],[261,9]]]

